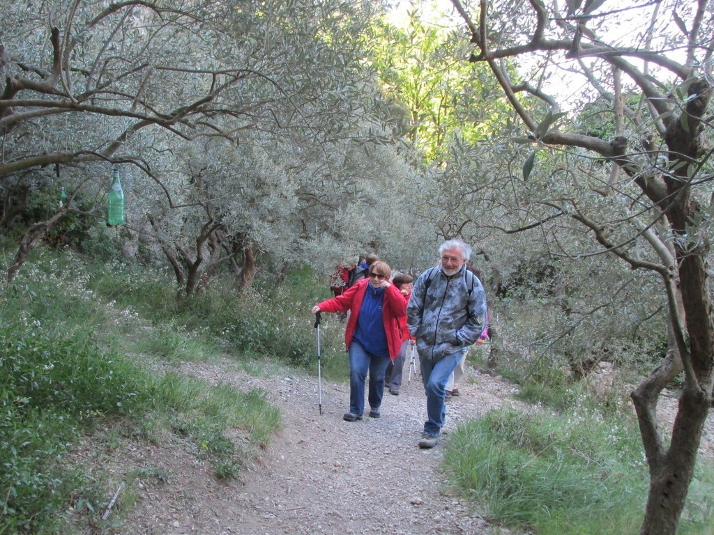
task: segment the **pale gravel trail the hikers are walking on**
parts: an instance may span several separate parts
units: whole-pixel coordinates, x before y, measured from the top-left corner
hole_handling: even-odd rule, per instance
[[[181,372],[241,389],[266,389],[283,414],[283,429],[238,481],[218,482],[186,445],[131,449],[121,462],[152,469],[139,489],[125,534],[471,534],[493,531],[477,511],[445,487],[443,448],[416,446],[426,398],[418,377],[401,395],[386,394],[382,417],[344,422],[348,384],[322,382],[294,370],[256,378],[229,363],[181,365]],[[511,385],[467,370],[462,395],[448,402],[446,431],[467,417],[516,404]],[[447,438],[448,439],[448,438]],[[503,531],[501,531],[503,532]]]

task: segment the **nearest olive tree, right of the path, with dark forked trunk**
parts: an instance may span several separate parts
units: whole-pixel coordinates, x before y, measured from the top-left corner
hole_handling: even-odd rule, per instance
[[[714,27],[706,0],[664,0],[616,8],[602,0],[559,4],[530,0],[452,0],[476,51],[501,85],[506,101],[536,148],[565,151],[569,190],[543,190],[521,199],[531,225],[555,219],[581,225],[608,253],[659,280],[666,303],[668,351],[632,392],[650,489],[642,534],[675,533],[693,478],[714,384],[714,323],[708,285],[712,126],[711,43]],[[610,9],[611,8],[611,9]],[[607,33],[631,17],[635,42]],[[642,22],[644,21],[644,24]],[[639,24],[639,26],[637,26]],[[531,70],[526,71],[526,59]],[[513,62],[523,65],[521,73]],[[579,77],[575,78],[575,74]],[[548,86],[548,80],[557,80]],[[600,125],[583,131],[560,104],[560,87],[587,83],[590,102],[606,103]],[[572,93],[572,91],[570,92]],[[577,104],[577,103],[576,103]],[[547,151],[543,151],[547,153]],[[523,182],[538,172],[538,151],[523,161]],[[592,173],[609,162],[608,173]],[[577,187],[575,187],[577,186]],[[553,230],[555,227],[551,227]],[[543,233],[553,250],[570,258],[591,255],[558,233]],[[669,443],[658,423],[660,392],[683,374]]]

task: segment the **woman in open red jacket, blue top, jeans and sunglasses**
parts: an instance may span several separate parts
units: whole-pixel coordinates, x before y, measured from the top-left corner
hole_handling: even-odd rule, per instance
[[[345,345],[350,357],[350,412],[343,419],[354,422],[364,412],[364,383],[369,372],[369,415],[378,418],[384,393],[384,372],[401,349],[399,318],[406,315],[406,300],[389,282],[392,270],[376,261],[369,277],[358,280],[342,295],[319,302],[317,312],[350,310]]]

